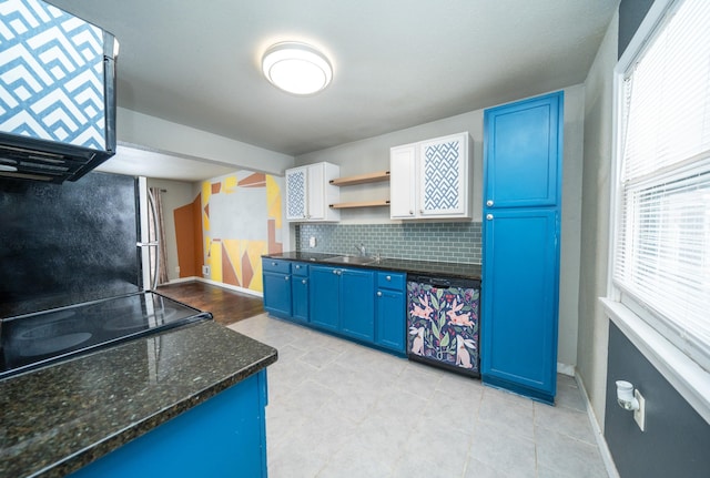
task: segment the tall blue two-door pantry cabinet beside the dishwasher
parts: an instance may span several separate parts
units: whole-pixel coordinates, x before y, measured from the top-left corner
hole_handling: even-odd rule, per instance
[[[557,389],[562,93],[484,114],[481,378]]]

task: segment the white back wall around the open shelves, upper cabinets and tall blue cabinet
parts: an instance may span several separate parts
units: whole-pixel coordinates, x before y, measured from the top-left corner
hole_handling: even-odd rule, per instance
[[[562,164],[562,223],[560,253],[560,303],[558,330],[558,362],[566,372],[577,364],[579,242],[581,217],[581,173],[584,142],[584,85],[565,89],[565,143]],[[341,166],[341,175],[348,176],[389,169],[389,149],[446,134],[468,131],[474,151],[474,218],[483,214],[483,123],[484,110],[476,110],[406,130],[314,153],[296,156],[296,165],[327,161]],[[342,201],[365,201],[388,197],[387,183],[341,187]],[[342,223],[389,223],[387,207],[343,210]]]

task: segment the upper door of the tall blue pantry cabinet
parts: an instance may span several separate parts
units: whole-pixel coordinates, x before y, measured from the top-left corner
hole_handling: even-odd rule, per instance
[[[485,166],[484,204],[495,207],[557,205],[561,104],[559,93],[486,112],[484,148],[490,161],[486,161]]]

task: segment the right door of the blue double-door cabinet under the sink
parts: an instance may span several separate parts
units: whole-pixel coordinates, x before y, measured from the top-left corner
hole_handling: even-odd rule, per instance
[[[341,332],[365,342],[375,339],[375,274],[342,269]]]

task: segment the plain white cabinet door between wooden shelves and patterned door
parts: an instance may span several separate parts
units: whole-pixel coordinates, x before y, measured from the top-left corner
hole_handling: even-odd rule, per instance
[[[389,216],[413,218],[416,214],[416,146],[389,151]]]

